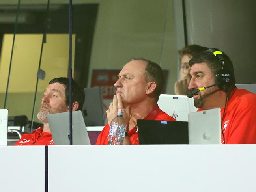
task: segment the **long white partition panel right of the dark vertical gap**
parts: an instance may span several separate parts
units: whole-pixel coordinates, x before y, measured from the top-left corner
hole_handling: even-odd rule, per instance
[[[256,145],[49,146],[49,192],[255,191]]]

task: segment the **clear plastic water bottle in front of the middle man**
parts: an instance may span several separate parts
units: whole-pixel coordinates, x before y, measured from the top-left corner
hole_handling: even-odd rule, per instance
[[[123,112],[118,109],[117,116],[111,121],[108,134],[108,145],[122,145],[125,138],[126,122]]]

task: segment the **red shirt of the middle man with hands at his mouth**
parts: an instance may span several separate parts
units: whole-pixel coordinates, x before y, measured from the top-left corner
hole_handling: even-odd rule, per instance
[[[159,109],[158,105],[156,105],[149,114],[144,117],[145,120],[163,120],[163,121],[176,121],[173,117],[169,116],[161,109]],[[105,125],[101,134],[99,135],[96,145],[107,145],[108,144],[108,133],[109,133],[109,125]],[[132,145],[138,145],[138,129],[137,126],[133,127],[133,129],[128,131],[129,138],[131,140]]]

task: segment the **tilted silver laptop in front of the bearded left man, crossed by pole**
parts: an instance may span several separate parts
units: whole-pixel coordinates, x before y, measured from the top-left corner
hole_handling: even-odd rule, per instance
[[[73,145],[90,145],[81,111],[73,111]],[[69,112],[47,115],[54,145],[69,145]]]

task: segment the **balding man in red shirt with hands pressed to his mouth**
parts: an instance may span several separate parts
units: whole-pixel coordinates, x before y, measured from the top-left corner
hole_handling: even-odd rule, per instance
[[[157,105],[164,87],[163,71],[159,65],[143,58],[133,58],[118,76],[114,84],[116,95],[107,110],[108,124],[96,145],[108,144],[109,125],[116,117],[118,108],[123,109],[123,117],[127,121],[128,136],[124,144],[139,144],[137,119],[175,121]]]

